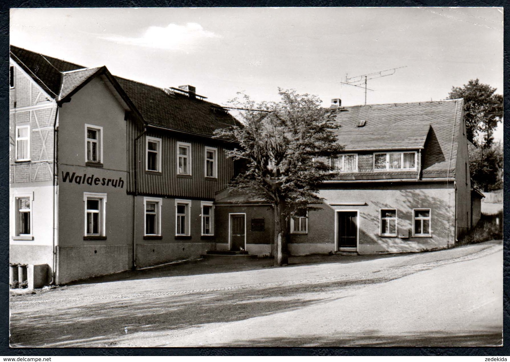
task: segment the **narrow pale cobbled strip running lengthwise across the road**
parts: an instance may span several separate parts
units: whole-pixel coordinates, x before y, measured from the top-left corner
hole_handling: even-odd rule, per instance
[[[186,295],[186,294],[194,294],[194,293],[214,293],[214,292],[223,292],[223,291],[235,291],[235,290],[245,290],[245,289],[265,289],[265,288],[274,288],[274,287],[288,287],[288,286],[297,286],[297,285],[310,285],[310,284],[321,284],[328,282],[342,282],[345,281],[347,285],[354,286],[356,282],[358,284],[366,284],[371,279],[378,279],[377,282],[387,282],[390,280],[395,280],[401,278],[406,275],[410,275],[413,273],[417,273],[423,270],[428,270],[432,268],[437,268],[443,265],[458,263],[468,260],[473,260],[475,258],[479,258],[482,256],[486,256],[497,252],[502,248],[502,245],[494,245],[487,249],[480,250],[473,254],[468,254],[452,259],[441,260],[441,261],[432,261],[426,263],[419,263],[410,266],[390,266],[384,267],[384,269],[371,271],[371,272],[363,272],[363,273],[354,273],[354,274],[341,274],[341,275],[333,275],[328,277],[320,277],[320,278],[308,278],[308,279],[300,279],[300,280],[289,280],[283,282],[264,282],[257,284],[246,284],[240,286],[229,286],[229,287],[218,287],[218,288],[207,288],[207,289],[192,289],[192,290],[179,290],[179,291],[168,291],[168,292],[149,292],[149,293],[126,293],[126,294],[104,294],[104,295],[88,295],[88,296],[80,296],[80,297],[69,297],[69,298],[50,298],[45,299],[41,295],[42,298],[38,298],[37,300],[12,300],[11,303],[15,304],[16,307],[21,307],[23,305],[30,305],[33,303],[60,303],[60,302],[72,302],[72,301],[100,301],[100,300],[108,300],[108,299],[133,299],[133,298],[143,298],[143,297],[160,297],[160,296],[171,296],[171,295]],[[30,296],[34,297],[34,296]]]

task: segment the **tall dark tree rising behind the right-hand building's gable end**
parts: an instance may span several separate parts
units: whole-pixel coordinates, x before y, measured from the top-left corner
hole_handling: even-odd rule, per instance
[[[495,91],[496,88],[475,79],[462,87],[452,87],[448,93],[448,99],[464,98],[466,136],[484,148],[491,147],[494,128],[503,118],[503,96],[494,94]],[[483,135],[481,141],[476,140],[478,134]]]

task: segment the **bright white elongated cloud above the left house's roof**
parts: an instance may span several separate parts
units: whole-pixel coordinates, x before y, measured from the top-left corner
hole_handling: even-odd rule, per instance
[[[219,38],[213,32],[203,30],[200,24],[189,22],[186,25],[168,24],[167,27],[148,27],[139,38],[122,35],[99,35],[98,38],[122,44],[148,46],[160,49],[189,50],[208,38]]]

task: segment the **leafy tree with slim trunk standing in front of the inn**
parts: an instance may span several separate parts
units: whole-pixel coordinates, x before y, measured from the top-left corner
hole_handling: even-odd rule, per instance
[[[313,210],[323,180],[335,174],[314,158],[335,157],[335,113],[320,106],[318,97],[278,88],[282,100],[256,104],[248,96],[231,101],[240,109],[243,125],[216,131],[239,147],[228,156],[245,163],[244,170],[229,185],[246,199],[263,199],[273,204],[275,265],[288,262],[289,220]]]

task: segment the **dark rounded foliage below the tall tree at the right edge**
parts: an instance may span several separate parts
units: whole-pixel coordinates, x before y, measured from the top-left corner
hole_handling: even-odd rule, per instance
[[[482,191],[503,187],[503,146],[495,142],[490,148],[469,148],[469,171],[473,186]]]

